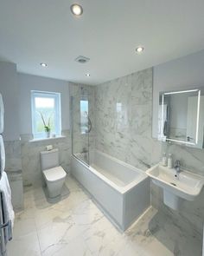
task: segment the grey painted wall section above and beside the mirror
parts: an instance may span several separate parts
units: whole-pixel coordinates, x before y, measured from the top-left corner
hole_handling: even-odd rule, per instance
[[[152,136],[157,135],[160,91],[204,87],[204,50],[153,69]]]

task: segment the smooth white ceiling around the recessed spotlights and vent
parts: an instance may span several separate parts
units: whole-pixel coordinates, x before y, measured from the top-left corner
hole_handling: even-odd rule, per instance
[[[204,49],[203,0],[76,2],[80,18],[70,12],[75,1],[0,0],[0,59],[19,72],[98,84]],[[90,62],[74,62],[80,55]]]

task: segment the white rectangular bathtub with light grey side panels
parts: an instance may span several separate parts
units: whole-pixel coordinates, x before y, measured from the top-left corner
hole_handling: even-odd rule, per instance
[[[150,207],[150,180],[137,167],[98,150],[90,152],[90,166],[72,155],[71,173],[121,231]]]

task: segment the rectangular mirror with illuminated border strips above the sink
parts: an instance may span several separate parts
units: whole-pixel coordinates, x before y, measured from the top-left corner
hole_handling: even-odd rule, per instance
[[[204,148],[203,90],[189,89],[160,93],[158,140]]]

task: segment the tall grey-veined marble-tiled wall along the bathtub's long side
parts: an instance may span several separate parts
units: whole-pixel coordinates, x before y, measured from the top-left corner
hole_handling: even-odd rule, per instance
[[[159,161],[161,143],[151,137],[151,109],[152,69],[98,85],[96,148],[143,170]]]

